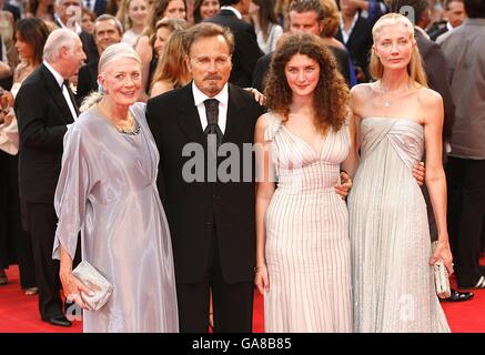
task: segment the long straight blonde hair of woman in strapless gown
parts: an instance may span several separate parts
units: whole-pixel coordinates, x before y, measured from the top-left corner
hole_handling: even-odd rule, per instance
[[[383,30],[383,27],[393,24],[404,26],[408,31],[414,44],[416,43],[416,41],[414,40],[413,23],[411,23],[411,21],[406,17],[400,13],[387,13],[380,18],[372,28],[372,38],[374,40],[374,45],[378,33],[381,33],[381,31]],[[381,59],[375,53],[374,47],[371,51],[371,62],[368,67],[372,79],[378,80],[382,78],[384,73],[384,67],[382,65]],[[423,60],[416,44],[413,47],[413,51],[411,52],[411,60],[407,63],[407,73],[410,74],[410,78],[415,82],[422,84],[423,87],[428,87],[426,72],[424,71],[423,67]]]

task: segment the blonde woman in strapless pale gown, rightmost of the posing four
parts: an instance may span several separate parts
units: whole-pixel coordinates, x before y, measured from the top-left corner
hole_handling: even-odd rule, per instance
[[[354,332],[449,332],[433,282],[443,260],[453,273],[442,165],[443,100],[427,89],[403,16],[373,28],[373,83],[354,87],[361,162],[348,196]],[[428,187],[438,230],[431,250],[426,205],[412,168],[426,154]]]

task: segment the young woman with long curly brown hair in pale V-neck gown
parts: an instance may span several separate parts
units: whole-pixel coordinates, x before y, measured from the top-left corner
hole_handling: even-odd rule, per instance
[[[322,40],[302,33],[274,52],[265,95],[254,139],[265,331],[351,332],[348,219],[335,191],[355,155],[348,88]]]

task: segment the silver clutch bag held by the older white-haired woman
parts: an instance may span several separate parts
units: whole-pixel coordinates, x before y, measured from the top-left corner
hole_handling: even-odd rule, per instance
[[[100,310],[113,293],[113,285],[87,261],[72,271],[72,275],[94,292],[92,296],[81,292],[81,298],[89,311]]]

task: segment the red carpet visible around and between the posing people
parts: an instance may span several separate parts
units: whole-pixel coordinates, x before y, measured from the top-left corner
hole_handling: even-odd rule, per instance
[[[482,260],[485,262],[485,260]],[[485,264],[485,263],[482,263]],[[20,290],[17,266],[7,270],[9,283],[0,286],[0,333],[80,333],[82,323],[72,327],[51,326],[40,321],[37,296],[26,296]],[[455,333],[485,333],[485,290],[474,291],[475,297],[462,303],[442,303],[449,326]],[[263,298],[254,296],[253,331],[263,332]]]

